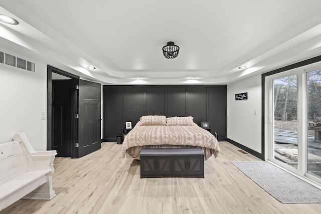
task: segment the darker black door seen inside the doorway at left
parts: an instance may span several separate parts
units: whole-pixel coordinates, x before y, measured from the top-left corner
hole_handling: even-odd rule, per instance
[[[51,142],[58,157],[72,156],[72,80],[52,80]]]

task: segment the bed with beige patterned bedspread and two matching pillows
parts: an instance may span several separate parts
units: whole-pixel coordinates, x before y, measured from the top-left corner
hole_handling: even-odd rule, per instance
[[[124,138],[122,154],[139,160],[142,148],[195,147],[202,149],[205,160],[220,152],[215,136],[194,123],[193,117],[146,115]]]

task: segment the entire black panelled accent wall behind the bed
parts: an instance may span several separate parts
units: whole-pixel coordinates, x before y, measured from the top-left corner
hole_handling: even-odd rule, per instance
[[[103,141],[116,142],[125,122],[143,115],[192,116],[227,139],[226,85],[103,86]]]

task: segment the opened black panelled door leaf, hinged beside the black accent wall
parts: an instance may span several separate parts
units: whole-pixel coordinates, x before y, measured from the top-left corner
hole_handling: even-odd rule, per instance
[[[100,149],[101,85],[79,80],[78,157]]]

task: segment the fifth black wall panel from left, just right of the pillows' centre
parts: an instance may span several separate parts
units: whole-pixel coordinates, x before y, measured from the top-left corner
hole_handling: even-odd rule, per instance
[[[187,88],[187,116],[194,117],[194,122],[206,121],[206,87]]]

